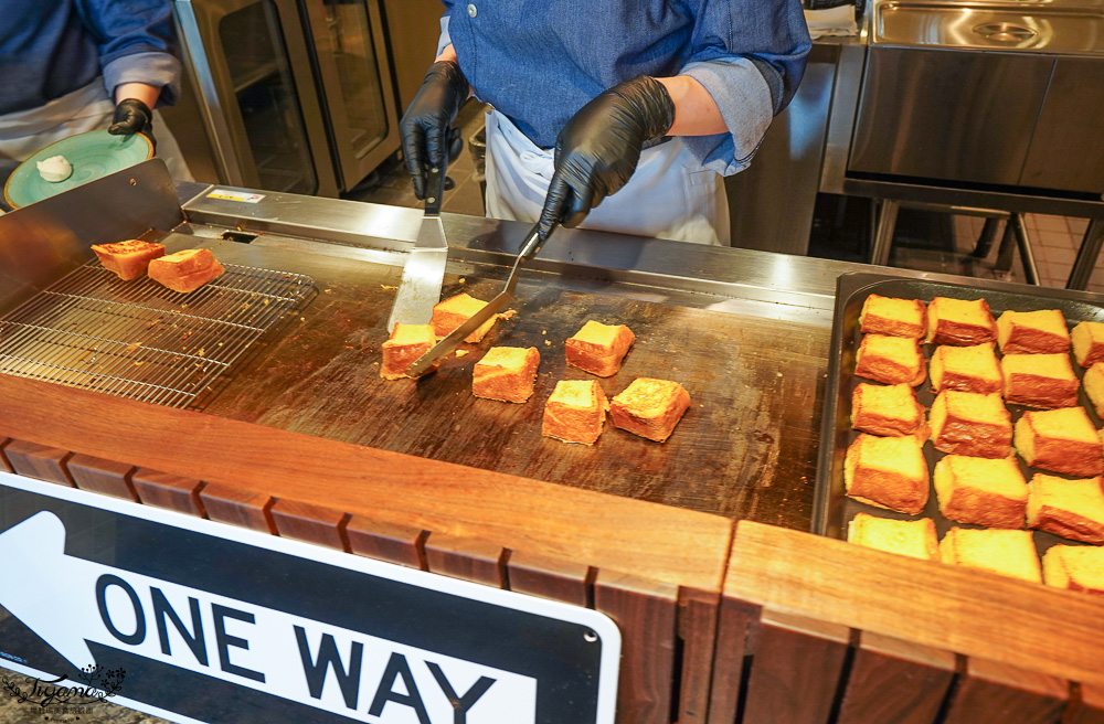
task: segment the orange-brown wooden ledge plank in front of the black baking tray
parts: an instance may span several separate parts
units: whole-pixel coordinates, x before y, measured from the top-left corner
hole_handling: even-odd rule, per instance
[[[1104,683],[1104,600],[741,521],[725,596],[1064,681]]]

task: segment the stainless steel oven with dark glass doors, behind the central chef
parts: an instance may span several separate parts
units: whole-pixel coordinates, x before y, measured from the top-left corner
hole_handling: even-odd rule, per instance
[[[174,0],[220,180],[337,196],[400,145],[379,0]]]

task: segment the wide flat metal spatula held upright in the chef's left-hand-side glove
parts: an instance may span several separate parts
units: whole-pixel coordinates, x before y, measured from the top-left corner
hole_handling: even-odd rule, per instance
[[[403,280],[388,318],[388,333],[396,323],[428,324],[433,306],[440,301],[440,283],[445,278],[448,243],[440,223],[440,202],[445,194],[445,169],[431,169],[425,192],[425,217],[418,231],[411,257],[403,267]]]

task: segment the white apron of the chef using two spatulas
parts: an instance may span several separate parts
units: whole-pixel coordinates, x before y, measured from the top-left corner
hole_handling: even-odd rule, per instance
[[[535,223],[552,172],[552,151],[497,110],[487,114],[488,216]],[[724,181],[673,138],[645,149],[628,183],[591,210],[580,228],[728,246]]]

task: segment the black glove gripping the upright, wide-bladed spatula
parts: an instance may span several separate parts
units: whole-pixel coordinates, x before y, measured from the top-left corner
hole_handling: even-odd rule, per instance
[[[438,61],[429,66],[422,87],[399,121],[406,169],[418,199],[425,199],[426,171],[440,168],[445,153],[454,159],[460,152],[464,141],[452,123],[467,98],[468,81],[460,66]]]

